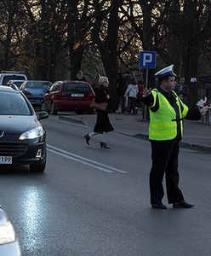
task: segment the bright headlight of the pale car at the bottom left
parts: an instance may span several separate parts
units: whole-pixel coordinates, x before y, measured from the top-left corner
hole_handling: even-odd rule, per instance
[[[0,244],[15,241],[14,227],[3,209],[0,208]]]

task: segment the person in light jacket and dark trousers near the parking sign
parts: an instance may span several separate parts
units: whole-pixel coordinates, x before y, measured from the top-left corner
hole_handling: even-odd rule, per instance
[[[139,89],[135,79],[131,79],[131,82],[128,84],[128,88],[124,94],[124,97],[128,96],[128,114],[130,114],[131,111],[135,114],[135,102],[138,92]]]

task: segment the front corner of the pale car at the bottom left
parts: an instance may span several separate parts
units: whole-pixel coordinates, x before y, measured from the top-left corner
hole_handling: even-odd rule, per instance
[[[20,243],[3,207],[0,206],[0,255],[21,256]]]

